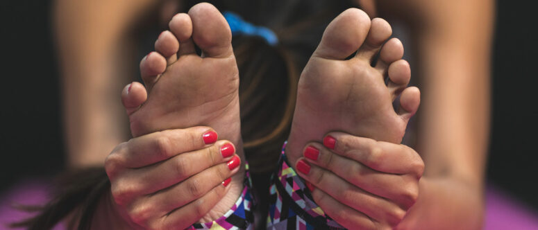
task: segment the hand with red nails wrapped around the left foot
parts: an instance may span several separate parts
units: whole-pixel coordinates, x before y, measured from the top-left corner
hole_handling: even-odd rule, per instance
[[[105,168],[113,206],[129,227],[185,229],[224,197],[239,161],[232,143],[191,127],[121,143]]]

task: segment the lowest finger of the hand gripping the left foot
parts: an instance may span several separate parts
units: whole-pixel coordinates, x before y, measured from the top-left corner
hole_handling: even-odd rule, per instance
[[[225,194],[226,188],[217,185],[198,200],[163,216],[160,220],[160,224],[162,224],[160,229],[186,229],[207,214]]]

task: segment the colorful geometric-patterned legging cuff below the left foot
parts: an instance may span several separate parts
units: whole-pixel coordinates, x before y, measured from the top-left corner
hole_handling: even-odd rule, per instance
[[[254,215],[253,215],[253,199],[250,193],[252,182],[249,175],[249,164],[246,164],[246,176],[245,176],[245,188],[243,193],[237,199],[237,202],[233,205],[226,214],[221,218],[203,224],[192,224],[187,229],[211,229],[211,230],[228,230],[228,229],[253,229],[254,227]]]

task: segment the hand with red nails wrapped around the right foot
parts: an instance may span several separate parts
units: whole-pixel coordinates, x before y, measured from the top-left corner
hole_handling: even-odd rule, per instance
[[[332,132],[296,163],[314,201],[348,229],[392,229],[419,195],[424,164],[405,145]],[[310,184],[309,184],[310,182]]]

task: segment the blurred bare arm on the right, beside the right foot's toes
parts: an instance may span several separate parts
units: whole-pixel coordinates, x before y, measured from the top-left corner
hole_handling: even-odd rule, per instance
[[[479,229],[494,2],[379,3],[381,15],[405,18],[412,28],[418,57],[415,73],[423,92],[417,147],[426,171],[419,200],[400,227]]]

